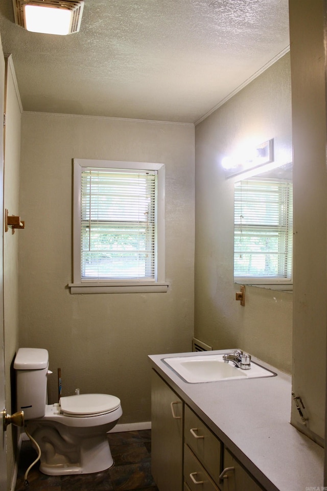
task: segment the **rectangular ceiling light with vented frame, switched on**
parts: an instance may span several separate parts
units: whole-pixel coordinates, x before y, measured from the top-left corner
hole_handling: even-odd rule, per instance
[[[12,0],[15,23],[28,31],[66,35],[80,30],[83,1]]]

